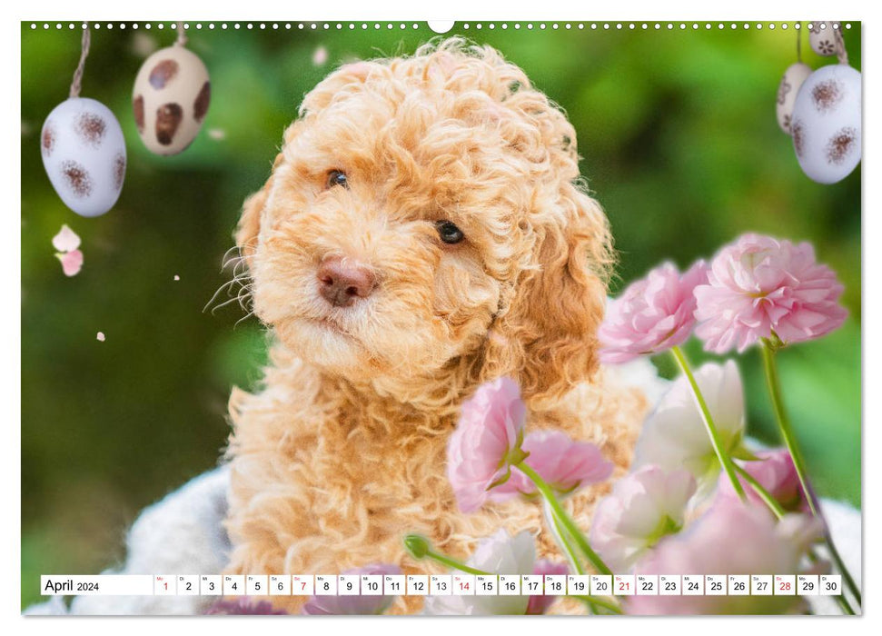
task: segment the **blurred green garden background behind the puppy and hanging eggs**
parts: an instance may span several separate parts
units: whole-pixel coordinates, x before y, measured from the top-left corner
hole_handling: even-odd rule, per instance
[[[123,556],[139,510],[213,467],[233,384],[253,386],[263,333],[235,303],[203,306],[229,273],[223,253],[244,197],[269,173],[282,131],[323,75],[356,58],[411,53],[424,24],[291,30],[242,24],[189,32],[212,78],[202,133],[183,154],[148,153],[131,93],[171,25],[94,29],[83,96],[123,125],[129,164],[113,211],[84,219],[55,195],[39,133],[67,97],[80,30],[22,25],[22,605],[41,573],[92,573]],[[498,47],[561,104],[579,134],[581,169],[604,205],[620,254],[613,292],[663,259],[687,266],[746,231],[815,243],[846,285],[837,333],[780,354],[786,399],[825,495],[860,504],[860,170],[835,185],[804,176],[778,130],[775,99],[796,61],[796,32],[768,25],[648,31],[598,25],[458,24]],[[845,32],[860,69],[860,25]],[[808,48],[803,58],[818,67]],[[326,55],[327,59],[322,60]],[[83,237],[82,273],[65,278],[51,238]],[[179,281],[173,280],[177,275]],[[97,332],[106,334],[104,343]],[[705,357],[699,343],[689,353]],[[667,360],[659,360],[670,375]],[[776,437],[758,356],[741,364],[750,430]]]

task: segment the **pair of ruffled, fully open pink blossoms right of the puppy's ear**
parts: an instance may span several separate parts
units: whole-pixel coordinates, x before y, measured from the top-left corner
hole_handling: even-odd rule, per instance
[[[662,263],[610,302],[600,326],[600,359],[626,363],[686,342],[743,352],[760,339],[799,343],[837,329],[847,312],[836,273],[810,243],[744,234],[709,263],[680,274]]]

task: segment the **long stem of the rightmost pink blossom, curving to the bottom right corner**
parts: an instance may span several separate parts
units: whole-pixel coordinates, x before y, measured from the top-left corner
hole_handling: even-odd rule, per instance
[[[842,561],[842,557],[839,556],[839,552],[833,544],[833,538],[830,536],[827,519],[824,518],[824,514],[821,512],[818,495],[815,494],[815,489],[812,488],[811,482],[808,481],[806,462],[803,461],[802,453],[799,451],[797,445],[796,435],[793,432],[793,427],[790,425],[790,418],[788,417],[787,411],[784,409],[781,381],[778,376],[778,363],[775,361],[775,346],[768,341],[768,339],[763,338],[760,351],[762,351],[763,356],[763,369],[766,372],[768,394],[771,397],[772,407],[775,410],[775,418],[778,420],[778,428],[781,431],[781,437],[784,438],[784,444],[787,446],[790,458],[793,460],[793,466],[797,471],[802,491],[806,493],[808,508],[811,510],[811,513],[823,523],[824,541],[827,543],[827,550],[830,552],[830,557],[836,563],[839,571],[842,572],[842,578],[846,581],[848,589],[854,594],[855,600],[859,606],[861,604],[860,591],[857,589],[855,580],[851,577],[851,573],[847,570],[845,563]]]

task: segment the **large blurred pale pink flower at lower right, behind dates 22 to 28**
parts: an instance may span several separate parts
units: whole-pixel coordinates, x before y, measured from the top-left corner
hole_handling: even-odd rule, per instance
[[[659,542],[638,574],[798,574],[820,522],[788,514],[780,522],[762,506],[719,500],[679,534]],[[773,614],[798,611],[798,596],[633,596],[630,614]]]

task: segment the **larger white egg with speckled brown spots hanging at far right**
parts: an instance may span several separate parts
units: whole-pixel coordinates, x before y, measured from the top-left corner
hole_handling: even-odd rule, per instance
[[[822,66],[803,82],[790,128],[802,171],[818,184],[841,181],[860,161],[860,73]]]

